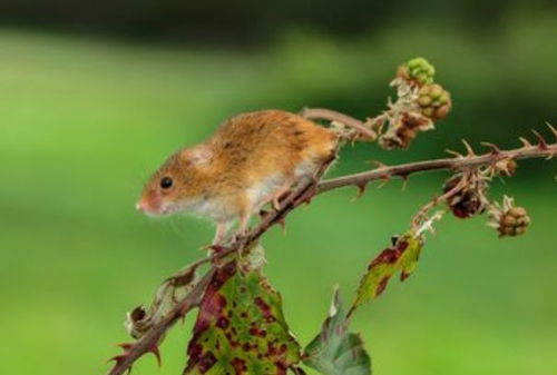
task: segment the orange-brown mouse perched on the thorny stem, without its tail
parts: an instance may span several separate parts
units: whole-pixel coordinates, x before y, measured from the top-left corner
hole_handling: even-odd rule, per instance
[[[335,155],[339,135],[293,112],[234,116],[206,141],[173,154],[145,185],[136,208],[150,216],[190,213],[216,225],[213,245],[238,234],[263,206],[315,177]]]

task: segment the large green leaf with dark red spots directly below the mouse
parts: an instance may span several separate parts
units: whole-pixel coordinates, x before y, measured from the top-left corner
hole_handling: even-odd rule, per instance
[[[184,374],[284,375],[300,362],[282,299],[257,270],[235,260],[215,272],[199,306]]]

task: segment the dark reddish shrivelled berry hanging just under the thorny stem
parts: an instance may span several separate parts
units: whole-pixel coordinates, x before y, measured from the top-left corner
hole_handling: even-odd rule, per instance
[[[449,193],[460,184],[461,175],[452,176],[444,182],[443,193]],[[452,215],[460,219],[467,219],[476,214],[481,214],[485,210],[483,190],[485,184],[475,182],[467,184],[460,191],[455,194],[447,200]]]

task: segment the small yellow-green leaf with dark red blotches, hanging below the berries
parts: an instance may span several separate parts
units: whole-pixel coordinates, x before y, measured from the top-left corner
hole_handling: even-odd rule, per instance
[[[352,312],[365,302],[373,300],[383,293],[392,275],[400,272],[400,279],[407,279],[418,265],[423,241],[407,233],[393,240],[393,245],[378,255],[368,266],[360,282]]]

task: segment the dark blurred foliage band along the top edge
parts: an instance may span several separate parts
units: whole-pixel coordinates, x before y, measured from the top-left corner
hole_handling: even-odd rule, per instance
[[[393,28],[419,17],[423,23],[447,20],[476,31],[492,30],[520,0],[319,1],[319,0],[3,0],[0,22],[133,38],[233,45],[262,45],[283,29],[309,28],[336,36]],[[528,1],[547,10],[551,0]]]

